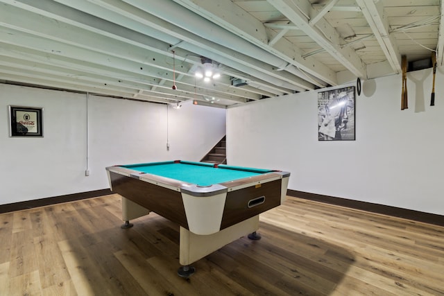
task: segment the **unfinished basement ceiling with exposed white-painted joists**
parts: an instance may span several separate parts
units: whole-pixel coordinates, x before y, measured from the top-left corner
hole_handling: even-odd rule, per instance
[[[6,83],[227,107],[401,73],[402,55],[429,67],[436,51],[443,65],[439,0],[0,5],[0,82]],[[196,78],[204,66],[221,77]]]

